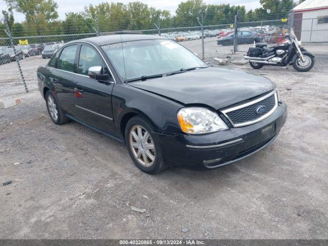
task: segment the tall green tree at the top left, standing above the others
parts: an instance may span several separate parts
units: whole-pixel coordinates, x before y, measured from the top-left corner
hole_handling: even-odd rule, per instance
[[[47,31],[47,24],[58,18],[57,3],[54,0],[5,0],[7,5],[25,15],[29,32],[41,35]]]

